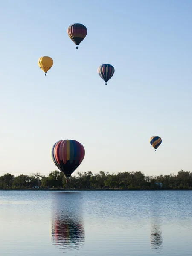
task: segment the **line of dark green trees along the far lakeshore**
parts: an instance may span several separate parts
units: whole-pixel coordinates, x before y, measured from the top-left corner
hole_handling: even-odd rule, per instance
[[[78,172],[66,183],[60,171],[50,172],[48,176],[34,173],[14,176],[10,173],[0,176],[0,189],[115,189],[115,190],[163,190],[192,189],[192,172],[180,170],[176,175],[145,176],[142,172],[119,172],[117,174],[100,171],[97,174]]]

